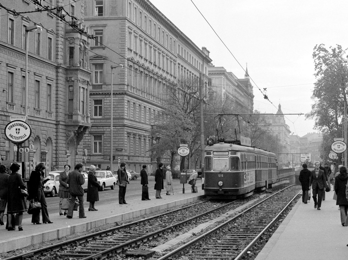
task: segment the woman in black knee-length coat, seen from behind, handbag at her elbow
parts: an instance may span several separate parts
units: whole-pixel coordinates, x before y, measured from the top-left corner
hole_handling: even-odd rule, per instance
[[[17,215],[18,217],[18,231],[22,231],[23,212],[27,211],[24,196],[21,189],[25,189],[26,185],[22,180],[21,174],[18,174],[18,170],[21,166],[18,163],[13,163],[10,166],[11,174],[7,179],[8,191],[7,191],[7,214],[8,214],[8,231],[15,230],[11,219]]]

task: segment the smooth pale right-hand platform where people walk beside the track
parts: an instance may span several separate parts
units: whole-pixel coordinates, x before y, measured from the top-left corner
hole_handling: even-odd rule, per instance
[[[300,198],[255,260],[347,259],[348,227],[333,194],[325,193],[321,210],[314,209],[313,198],[308,204]]]

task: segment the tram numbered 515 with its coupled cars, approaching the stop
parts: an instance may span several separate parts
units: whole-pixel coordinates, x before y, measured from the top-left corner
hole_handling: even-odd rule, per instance
[[[266,189],[275,174],[276,155],[262,149],[230,143],[205,148],[204,194],[215,198],[247,197]],[[274,163],[272,163],[274,162]]]

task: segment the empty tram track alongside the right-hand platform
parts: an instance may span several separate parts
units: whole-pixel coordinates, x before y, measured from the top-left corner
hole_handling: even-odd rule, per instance
[[[259,240],[259,238],[275,223],[275,221],[278,220],[282,213],[301,192],[299,191],[294,195],[294,192],[286,191],[286,189],[287,188],[284,188],[279,192],[272,194],[261,202],[251,206],[238,215],[223,222],[219,226],[216,226],[206,233],[196,237],[192,241],[189,241],[188,243],[156,259],[175,259],[175,257],[178,257],[180,253],[183,253],[187,259],[242,259],[246,252],[251,249],[252,246]],[[258,206],[262,205],[265,202],[268,202],[271,198],[273,198],[277,194],[279,195],[279,193],[281,192],[284,192],[285,196],[292,198],[290,201],[288,201],[288,203],[280,202],[279,204],[277,204],[282,208],[280,211],[278,208],[267,209],[264,207],[262,208],[262,211],[257,211]],[[245,224],[245,221],[239,223],[238,219],[243,217],[245,213],[250,213],[251,210],[256,211],[257,214],[250,218],[250,221],[248,221],[247,224]],[[224,229],[227,229],[228,231],[222,231]],[[212,234],[214,234],[216,231],[220,231],[220,233],[224,232],[221,238],[212,238]],[[200,244],[197,245],[199,242]],[[197,248],[188,250],[190,249],[190,247],[194,247],[195,245],[197,245]]]

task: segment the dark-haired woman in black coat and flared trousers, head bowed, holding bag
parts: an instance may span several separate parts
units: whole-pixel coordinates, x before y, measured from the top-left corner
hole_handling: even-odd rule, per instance
[[[31,200],[41,203],[41,214],[42,222],[52,224],[48,217],[47,203],[44,194],[44,170],[46,169],[45,164],[39,163],[36,165],[35,170],[31,172],[29,178],[29,198]],[[33,224],[40,223],[40,211],[33,212],[31,217],[31,222]]]

